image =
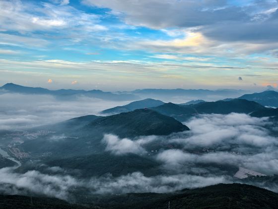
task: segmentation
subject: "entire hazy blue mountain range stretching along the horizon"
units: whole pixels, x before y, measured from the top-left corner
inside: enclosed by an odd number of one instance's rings
[[[20,93],[20,94],[43,94],[53,95],[59,99],[76,99],[77,96],[87,96],[110,101],[135,101],[140,99],[152,98],[156,100],[172,101],[177,98],[181,99],[200,99],[200,98],[215,98],[215,100],[224,99],[225,97],[236,98],[246,91],[243,90],[203,90],[203,89],[142,89],[125,92],[103,92],[100,90],[48,90],[44,88],[33,88],[7,83],[0,87],[0,92]]]

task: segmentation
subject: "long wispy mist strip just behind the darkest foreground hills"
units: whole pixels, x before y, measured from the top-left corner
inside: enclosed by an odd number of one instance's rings
[[[49,168],[60,172],[60,168]],[[134,172],[117,178],[111,175],[77,179],[69,175],[48,175],[38,171],[16,173],[13,168],[0,169],[0,193],[5,195],[44,195],[56,197],[70,202],[74,201],[74,193],[78,189],[86,189],[91,194],[155,192],[169,193],[184,188],[197,188],[222,182],[229,182],[225,176],[196,175],[158,175],[146,177]]]

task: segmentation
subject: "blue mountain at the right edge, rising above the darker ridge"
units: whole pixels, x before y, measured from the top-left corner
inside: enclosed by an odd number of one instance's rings
[[[278,92],[276,91],[265,91],[261,93],[243,95],[238,99],[254,101],[264,106],[278,107]]]

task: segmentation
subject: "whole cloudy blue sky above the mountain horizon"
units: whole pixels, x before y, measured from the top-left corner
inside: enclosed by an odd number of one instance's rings
[[[277,0],[0,0],[0,85],[278,85]]]

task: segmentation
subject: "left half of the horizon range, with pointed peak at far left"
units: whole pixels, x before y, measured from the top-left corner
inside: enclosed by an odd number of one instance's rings
[[[72,89],[60,89],[60,90],[48,90],[44,88],[24,87],[12,83],[5,84],[0,87],[0,90],[7,91],[9,93],[20,94],[36,94],[36,95],[53,95],[59,98],[72,98],[78,95],[84,95],[87,97],[93,97],[103,100],[112,101],[130,101],[139,99],[138,96],[132,94],[114,94],[111,92],[103,92],[100,90],[72,90]]]

